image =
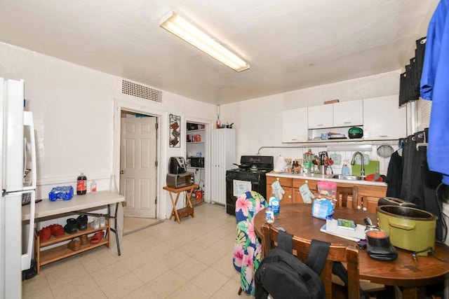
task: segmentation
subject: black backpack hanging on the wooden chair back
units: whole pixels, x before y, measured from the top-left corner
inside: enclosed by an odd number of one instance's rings
[[[280,231],[278,248],[267,253],[255,272],[255,298],[326,298],[319,274],[328,256],[330,243],[312,240],[306,263],[292,252],[292,235]]]

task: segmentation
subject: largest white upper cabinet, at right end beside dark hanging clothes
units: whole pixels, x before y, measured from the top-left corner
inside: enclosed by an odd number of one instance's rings
[[[398,139],[407,136],[407,109],[398,95],[363,99],[363,139]]]

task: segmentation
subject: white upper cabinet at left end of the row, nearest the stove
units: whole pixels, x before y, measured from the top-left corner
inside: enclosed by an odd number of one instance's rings
[[[307,141],[307,107],[282,111],[282,142]]]

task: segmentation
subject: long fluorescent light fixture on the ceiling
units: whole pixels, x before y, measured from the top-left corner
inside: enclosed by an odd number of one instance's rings
[[[187,22],[187,20],[177,15],[174,11],[170,11],[170,13],[165,15],[161,19],[159,26],[175,34],[180,39],[187,41],[187,43],[190,43],[204,53],[214,57],[219,62],[226,64],[235,71],[244,71],[250,68],[247,62],[227,50],[220,43],[217,43],[217,41],[200,29],[194,27],[194,25]]]

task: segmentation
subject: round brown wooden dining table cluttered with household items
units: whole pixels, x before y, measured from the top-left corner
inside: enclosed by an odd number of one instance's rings
[[[354,210],[347,207],[335,207],[334,218],[354,220],[364,225],[363,219],[369,217],[377,223],[376,214],[368,211]],[[264,210],[256,214],[254,226],[258,236],[262,236],[265,223]],[[311,204],[281,204],[279,215],[274,216],[274,226],[284,228],[287,232],[304,239],[318,239],[332,244],[354,244],[356,242],[321,232],[326,220],[311,216]],[[360,279],[375,284],[401,287],[403,298],[425,298],[425,286],[449,279],[449,263],[438,260],[431,253],[413,259],[412,251],[398,249],[396,260],[373,260],[366,249],[359,250],[358,264]],[[438,258],[449,258],[449,247],[436,242],[434,252]]]

